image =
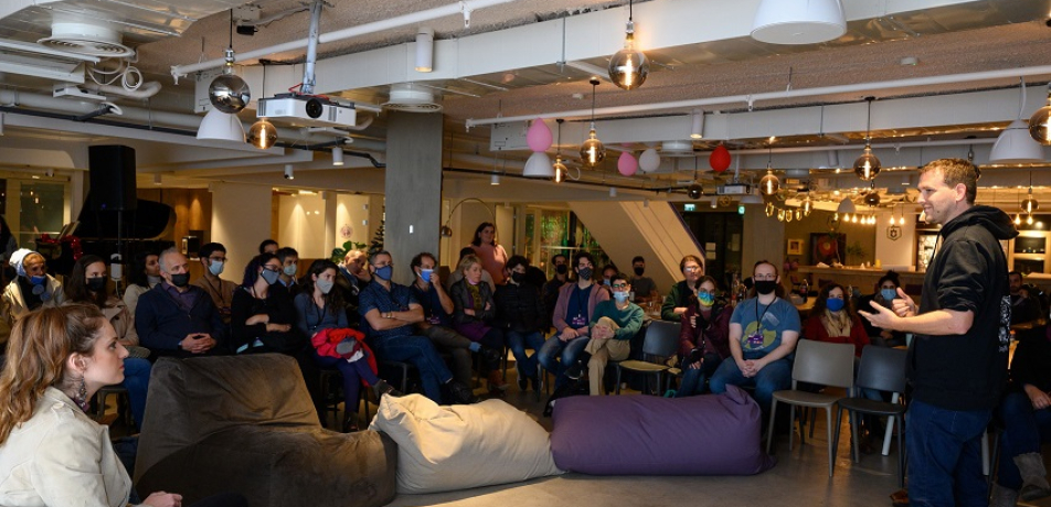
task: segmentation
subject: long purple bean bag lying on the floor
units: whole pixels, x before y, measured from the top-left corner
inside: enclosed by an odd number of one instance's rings
[[[688,398],[563,398],[552,418],[551,452],[564,471],[754,475],[774,466],[760,445],[760,407],[734,386]]]

